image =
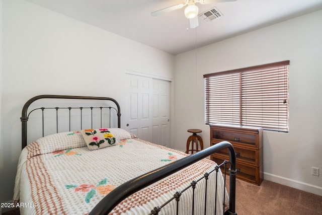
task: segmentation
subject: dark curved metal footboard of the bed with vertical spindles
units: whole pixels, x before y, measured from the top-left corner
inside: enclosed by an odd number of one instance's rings
[[[113,208],[119,204],[123,199],[130,196],[131,194],[147,187],[154,182],[166,178],[167,176],[188,167],[191,164],[194,164],[197,161],[200,161],[203,158],[210,156],[224,148],[228,148],[229,150],[229,157],[230,157],[230,168],[229,168],[229,209],[225,212],[225,214],[237,214],[235,212],[235,183],[236,183],[236,157],[235,151],[232,145],[227,141],[222,141],[219,144],[213,145],[205,150],[199,151],[196,154],[192,154],[188,157],[180,159],[176,162],[168,164],[166,166],[160,167],[156,170],[138,176],[114,189],[110,192],[107,196],[105,196],[90,212],[90,215],[94,214],[108,214]],[[227,163],[227,162],[225,162]],[[223,165],[223,164],[221,164]],[[217,167],[219,168],[219,167]],[[216,171],[216,170],[213,170]],[[207,179],[210,173],[205,173],[204,177],[201,179]],[[199,180],[201,180],[199,179]],[[190,187],[194,188],[194,185],[197,181],[192,182]],[[185,190],[186,190],[185,189]],[[172,200],[176,200],[179,202],[181,194],[185,191],[178,191],[174,194],[174,197],[169,199],[169,201],[165,202],[163,205],[155,206],[151,208],[150,214],[158,214],[160,209],[169,203]],[[206,202],[205,202],[206,203]],[[178,205],[177,205],[177,213],[178,213]],[[192,211],[193,214],[193,211]],[[184,214],[185,215],[185,214]]]

